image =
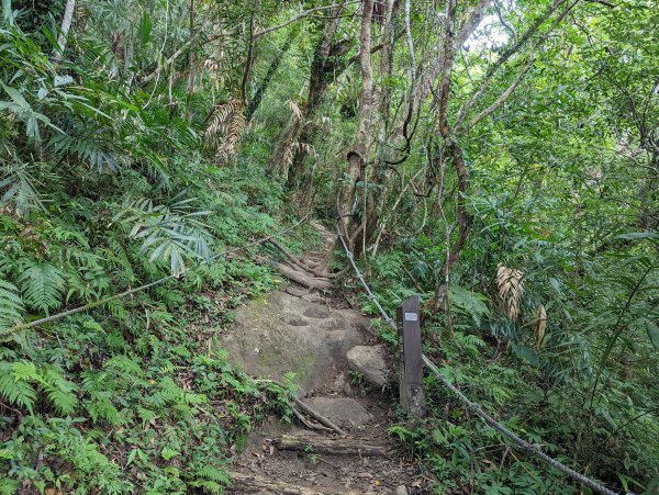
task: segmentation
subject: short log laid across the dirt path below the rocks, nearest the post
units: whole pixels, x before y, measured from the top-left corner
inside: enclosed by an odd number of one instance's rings
[[[389,445],[356,438],[326,438],[312,435],[282,435],[276,439],[277,448],[309,453],[335,455],[387,457],[393,452]]]

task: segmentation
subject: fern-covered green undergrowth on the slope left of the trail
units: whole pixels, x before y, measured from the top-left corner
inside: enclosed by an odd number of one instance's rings
[[[0,493],[221,493],[230,457],[266,410],[286,414],[290,392],[258,387],[220,349],[231,311],[279,283],[253,260],[261,248],[234,248],[293,215],[258,164],[217,167],[199,122],[146,91],[126,94],[93,65],[56,66],[44,33],[0,32],[11,79],[0,114]],[[311,232],[279,240],[300,249]]]

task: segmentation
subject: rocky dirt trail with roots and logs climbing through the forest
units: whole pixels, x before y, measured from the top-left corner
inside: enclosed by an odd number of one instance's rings
[[[424,493],[415,480],[417,466],[405,462],[387,437],[395,421],[396,401],[388,376],[392,367],[368,318],[346,300],[309,288],[326,282],[311,271],[326,272],[336,240],[324,227],[316,228],[324,248],[298,265],[281,267],[289,275],[288,270],[295,270],[292,278],[308,286],[291,283],[252,301],[222,345],[230,360],[254,376],[282,380],[294,372],[300,410],[310,406],[345,435],[306,415],[292,423],[269,417],[235,459],[234,488],[228,493]]]

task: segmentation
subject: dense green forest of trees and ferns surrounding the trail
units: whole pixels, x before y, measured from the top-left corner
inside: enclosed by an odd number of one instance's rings
[[[657,26],[657,0],[3,0],[0,493],[222,493],[291,392],[211,351],[278,283],[215,255],[308,216],[389,314],[421,296],[424,352],[509,428],[656,493]],[[391,435],[435,493],[580,493],[426,394]]]

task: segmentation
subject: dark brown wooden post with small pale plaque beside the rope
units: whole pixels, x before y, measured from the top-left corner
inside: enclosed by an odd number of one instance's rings
[[[398,310],[398,320],[401,342],[401,406],[412,419],[421,419],[426,415],[426,406],[423,390],[418,296],[414,295],[403,301]]]

